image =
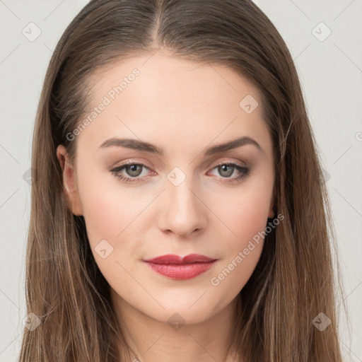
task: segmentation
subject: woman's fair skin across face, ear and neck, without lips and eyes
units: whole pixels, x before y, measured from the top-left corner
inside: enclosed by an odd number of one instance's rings
[[[132,57],[98,71],[92,105],[119,79],[140,75],[76,136],[76,160],[57,148],[70,208],[86,221],[95,262],[111,286],[117,316],[132,335],[139,361],[233,361],[227,344],[233,334],[238,293],[250,279],[264,240],[215,286],[211,278],[228,267],[274,216],[271,136],[262,119],[257,89],[225,66],[201,65],[163,52]],[[240,100],[252,95],[259,106],[247,114]],[[262,147],[245,145],[212,156],[205,148],[249,136]],[[164,155],[120,146],[100,148],[112,137],[141,139]],[[141,182],[119,180],[108,168],[127,160],[144,163]],[[228,161],[250,174],[216,167]],[[185,180],[168,180],[173,168]],[[230,172],[229,172],[230,171]],[[124,177],[135,174],[122,170]],[[229,176],[228,176],[229,175]],[[231,180],[231,181],[230,181]],[[113,251],[95,252],[100,240]],[[174,280],[148,268],[143,259],[165,254],[202,254],[218,259],[193,279]],[[178,313],[185,324],[173,329]]]

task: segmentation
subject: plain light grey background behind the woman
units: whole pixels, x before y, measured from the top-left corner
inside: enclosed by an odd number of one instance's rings
[[[0,0],[0,362],[15,362],[20,351],[30,213],[30,185],[23,175],[30,168],[42,81],[59,37],[87,2]],[[362,0],[255,3],[284,37],[303,85],[330,177],[351,320],[349,331],[341,314],[341,345],[345,361],[362,361]],[[36,35],[31,22],[41,30],[33,41],[22,33]]]

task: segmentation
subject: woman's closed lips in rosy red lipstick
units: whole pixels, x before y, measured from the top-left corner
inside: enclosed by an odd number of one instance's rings
[[[178,255],[162,255],[146,259],[144,262],[158,274],[171,279],[191,279],[209,270],[217,259],[205,255],[190,254],[185,257]]]

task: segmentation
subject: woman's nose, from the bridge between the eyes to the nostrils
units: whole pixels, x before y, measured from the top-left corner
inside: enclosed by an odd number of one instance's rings
[[[197,187],[194,187],[193,175],[180,168],[174,168],[168,173],[167,178],[160,228],[183,235],[204,228],[204,204],[200,195],[194,191]]]

